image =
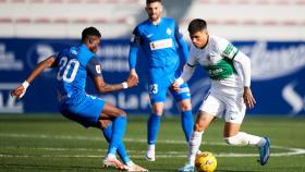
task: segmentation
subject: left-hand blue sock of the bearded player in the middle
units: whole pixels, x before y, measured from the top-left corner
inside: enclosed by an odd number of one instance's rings
[[[148,145],[155,145],[160,127],[161,115],[150,113],[147,122],[147,140]]]

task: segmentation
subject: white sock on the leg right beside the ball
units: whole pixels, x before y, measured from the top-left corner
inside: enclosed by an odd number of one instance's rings
[[[188,142],[188,163],[195,165],[196,153],[199,150],[202,144],[203,132],[193,132]]]

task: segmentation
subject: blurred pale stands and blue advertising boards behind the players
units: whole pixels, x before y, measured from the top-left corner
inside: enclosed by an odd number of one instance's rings
[[[164,16],[174,17],[184,38],[194,17],[207,20],[211,34],[227,37],[252,58],[252,88],[257,100],[252,115],[305,114],[305,1],[304,0],[163,0]],[[47,71],[22,101],[10,90],[37,62],[78,44],[83,28],[96,26],[102,44],[108,83],[127,77],[129,39],[136,23],[146,19],[144,0],[0,0],[0,113],[57,113],[54,72]],[[146,60],[139,54],[141,84],[115,94],[97,95],[130,114],[149,112]],[[190,81],[194,112],[209,87],[198,69]],[[200,75],[205,75],[202,78]],[[96,94],[89,82],[87,90]],[[178,114],[171,97],[166,114]]]

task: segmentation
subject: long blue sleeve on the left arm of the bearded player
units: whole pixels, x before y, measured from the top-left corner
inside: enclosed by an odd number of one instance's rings
[[[138,27],[135,27],[131,37],[130,53],[129,53],[129,64],[131,70],[135,69],[136,66],[136,58],[141,44],[142,44],[142,36]]]

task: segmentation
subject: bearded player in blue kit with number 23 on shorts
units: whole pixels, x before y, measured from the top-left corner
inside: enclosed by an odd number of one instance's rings
[[[155,161],[155,145],[163,113],[167,90],[181,74],[182,69],[179,66],[180,64],[185,64],[188,49],[174,20],[161,17],[161,0],[146,0],[145,10],[148,14],[148,20],[135,27],[131,39],[130,77],[138,77],[135,67],[137,52],[142,49],[148,60],[148,91],[151,103],[151,113],[147,122],[148,146],[146,159]],[[170,91],[175,101],[179,102],[182,127],[186,142],[188,142],[194,125],[191,94],[185,83],[180,88],[178,93],[171,89]]]

